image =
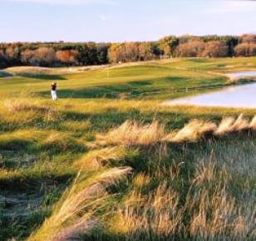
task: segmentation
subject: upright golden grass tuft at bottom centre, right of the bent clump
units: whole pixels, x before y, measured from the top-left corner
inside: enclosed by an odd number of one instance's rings
[[[153,234],[155,238],[179,233],[182,216],[177,209],[178,203],[177,194],[165,182],[147,195],[140,190],[131,191],[116,211],[110,229],[127,235],[130,240],[139,240],[141,229],[148,237]]]

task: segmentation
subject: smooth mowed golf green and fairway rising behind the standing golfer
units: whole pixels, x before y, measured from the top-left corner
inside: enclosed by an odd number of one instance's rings
[[[246,62],[244,62],[246,61]],[[226,68],[224,66],[227,66]],[[173,60],[150,61],[140,65],[102,67],[102,69],[82,71],[68,75],[42,75],[17,72],[8,80],[1,80],[1,94],[32,91],[47,96],[49,85],[57,81],[62,97],[112,97],[126,93],[132,97],[152,98],[185,88],[211,87],[224,84],[225,78],[208,71],[226,71],[255,66],[255,59],[237,60]],[[170,95],[171,96],[171,95]]]

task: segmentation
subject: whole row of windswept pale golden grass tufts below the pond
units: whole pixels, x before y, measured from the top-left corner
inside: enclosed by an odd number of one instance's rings
[[[97,135],[96,143],[100,145],[155,145],[160,142],[182,143],[194,142],[205,135],[222,136],[242,130],[255,130],[256,117],[252,120],[240,115],[237,119],[224,117],[219,124],[207,120],[190,120],[181,130],[171,130],[165,134],[165,125],[153,121],[148,125],[126,120],[126,122],[106,135]]]

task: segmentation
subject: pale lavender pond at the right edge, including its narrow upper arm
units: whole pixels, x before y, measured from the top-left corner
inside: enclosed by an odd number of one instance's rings
[[[251,77],[256,76],[256,71],[237,72],[229,74],[229,76],[232,78]],[[230,86],[221,91],[165,101],[163,104],[165,106],[256,108],[256,83],[244,86]]]

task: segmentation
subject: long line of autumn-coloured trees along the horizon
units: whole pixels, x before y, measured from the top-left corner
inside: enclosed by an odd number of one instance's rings
[[[163,37],[156,42],[0,43],[0,67],[86,66],[170,57],[253,57],[256,35]]]

